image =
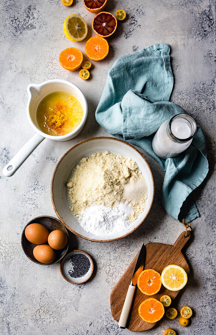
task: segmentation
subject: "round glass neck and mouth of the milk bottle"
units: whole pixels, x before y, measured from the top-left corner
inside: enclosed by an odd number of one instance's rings
[[[182,125],[182,127],[178,127],[180,129],[175,131],[174,125]],[[187,127],[187,132],[184,134],[182,130]],[[174,129],[174,130],[173,130]],[[193,139],[194,135],[196,134],[197,131],[197,124],[195,120],[187,115],[187,114],[177,114],[174,115],[168,122],[167,127],[166,127],[166,133],[169,139],[175,143],[186,143],[189,142],[190,140]]]

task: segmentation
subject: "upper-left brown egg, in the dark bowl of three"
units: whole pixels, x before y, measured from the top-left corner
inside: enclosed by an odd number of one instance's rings
[[[40,223],[31,223],[25,228],[26,239],[34,244],[47,243],[49,230]]]

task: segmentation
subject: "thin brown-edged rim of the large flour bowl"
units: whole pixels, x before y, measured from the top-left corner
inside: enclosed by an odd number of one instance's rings
[[[55,177],[55,174],[56,174],[56,171],[58,169],[58,166],[60,164],[60,162],[62,161],[62,159],[68,154],[69,151],[71,151],[73,148],[75,148],[76,146],[84,143],[84,142],[88,142],[88,141],[91,141],[91,140],[95,140],[95,139],[102,139],[102,138],[106,138],[106,139],[111,139],[111,140],[115,140],[115,141],[118,141],[118,142],[121,142],[121,143],[124,143],[124,144],[127,144],[128,146],[130,146],[132,149],[134,149],[137,153],[140,154],[140,156],[143,158],[143,160],[146,162],[146,164],[148,165],[148,168],[149,168],[149,171],[150,171],[150,174],[151,174],[151,178],[152,178],[152,184],[153,184],[153,196],[152,196],[152,201],[151,201],[151,205],[149,206],[149,210],[148,212],[146,213],[146,216],[144,217],[144,219],[131,231],[129,231],[127,234],[123,235],[123,236],[120,236],[120,237],[117,237],[115,239],[109,239],[109,240],[95,240],[95,239],[90,239],[90,238],[87,238],[85,236],[82,236],[81,234],[77,233],[75,230],[71,229],[63,220],[62,218],[60,217],[57,209],[56,209],[56,206],[55,206],[55,203],[54,203],[54,197],[53,197],[53,181],[54,181],[54,177]],[[58,216],[59,220],[64,224],[64,226],[70,230],[73,234],[85,239],[85,240],[88,240],[88,241],[93,241],[93,242],[111,242],[111,241],[116,241],[116,240],[120,240],[120,239],[123,239],[124,237],[130,235],[132,232],[134,232],[146,219],[146,217],[148,216],[149,212],[150,212],[150,209],[152,207],[152,204],[153,204],[153,201],[154,201],[154,191],[155,191],[155,187],[154,187],[154,178],[153,178],[153,174],[152,174],[152,171],[151,171],[151,168],[149,166],[149,163],[147,162],[147,160],[145,159],[145,157],[143,156],[143,154],[137,149],[135,148],[133,145],[131,145],[130,143],[127,143],[123,140],[120,140],[119,138],[115,138],[115,137],[109,137],[109,136],[97,136],[97,137],[91,137],[91,138],[88,138],[86,140],[83,140],[83,141],[80,141],[78,142],[77,144],[73,145],[70,149],[68,149],[64,154],[63,156],[59,159],[56,167],[55,167],[55,170],[53,172],[53,176],[52,176],[52,180],[51,180],[51,200],[52,200],[52,204],[53,204],[53,208],[56,212],[56,215]]]

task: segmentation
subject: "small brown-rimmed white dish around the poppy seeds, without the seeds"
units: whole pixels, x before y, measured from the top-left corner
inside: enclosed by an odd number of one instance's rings
[[[71,263],[69,261],[69,258],[72,256],[72,255],[75,255],[75,254],[85,254],[86,257],[88,257],[89,261],[90,261],[90,268],[88,270],[88,272],[86,272],[86,274],[84,274],[82,277],[78,277],[78,278],[74,278],[74,277],[71,277],[68,272],[69,270],[71,270]],[[93,269],[94,269],[94,264],[93,264],[93,261],[91,259],[91,257],[86,254],[84,251],[82,250],[73,250],[72,252],[70,252],[69,254],[67,254],[60,262],[60,272],[61,272],[61,275],[62,277],[67,280],[69,283],[71,284],[82,284],[84,283],[85,281],[87,281],[92,273],[93,273]]]

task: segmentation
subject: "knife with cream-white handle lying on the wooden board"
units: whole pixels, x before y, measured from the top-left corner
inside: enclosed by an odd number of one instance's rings
[[[145,259],[146,259],[146,248],[145,248],[145,244],[143,243],[139,256],[137,258],[137,262],[134,268],[134,273],[132,275],[131,283],[129,285],[128,292],[125,298],[124,306],[123,306],[122,313],[121,313],[119,323],[118,323],[118,328],[125,329],[126,327],[135,288],[136,288],[136,284],[137,284],[137,279],[140,273],[143,271],[143,268],[145,266]]]

